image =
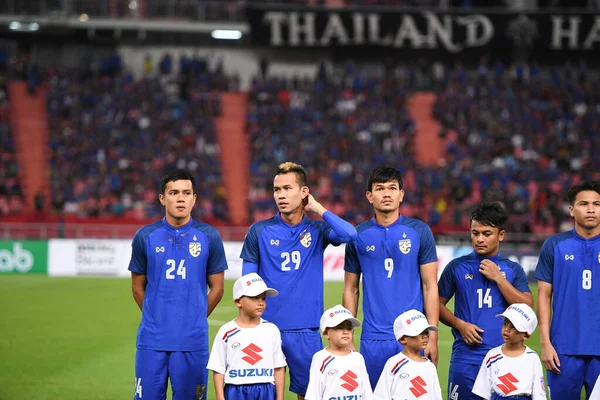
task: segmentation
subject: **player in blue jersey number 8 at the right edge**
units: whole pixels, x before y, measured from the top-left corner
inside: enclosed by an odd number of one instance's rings
[[[534,277],[542,363],[552,399],[587,397],[600,375],[600,182],[567,193],[575,228],[548,238]]]

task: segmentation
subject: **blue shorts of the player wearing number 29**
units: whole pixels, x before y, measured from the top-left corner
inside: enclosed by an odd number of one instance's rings
[[[281,331],[281,349],[290,369],[290,392],[304,396],[312,356],[323,349],[321,334],[318,329]]]

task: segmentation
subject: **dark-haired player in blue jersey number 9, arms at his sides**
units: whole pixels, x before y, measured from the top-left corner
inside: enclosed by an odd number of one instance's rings
[[[356,315],[362,275],[360,352],[375,388],[386,361],[402,351],[394,336],[396,317],[415,309],[438,323],[437,252],[431,229],[399,212],[404,190],[398,170],[373,169],[366,196],[375,216],[358,225],[358,238],[346,246],[343,305]],[[430,333],[425,356],[437,364],[437,332]]]

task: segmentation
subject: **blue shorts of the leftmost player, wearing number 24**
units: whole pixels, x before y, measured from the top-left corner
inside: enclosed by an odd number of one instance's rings
[[[164,400],[167,379],[173,400],[206,399],[209,353],[137,349],[134,400]]]

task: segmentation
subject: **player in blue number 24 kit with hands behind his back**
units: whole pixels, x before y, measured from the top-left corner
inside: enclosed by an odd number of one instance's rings
[[[129,263],[133,298],[142,310],[134,399],[206,398],[207,317],[223,297],[227,269],[217,230],[192,219],[194,177],[184,170],[160,182],[165,217],[140,229]],[[210,291],[207,293],[207,286]]]

